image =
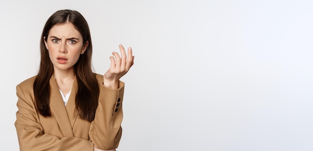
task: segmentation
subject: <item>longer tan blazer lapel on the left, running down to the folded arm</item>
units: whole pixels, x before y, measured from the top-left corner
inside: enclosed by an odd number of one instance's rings
[[[73,132],[67,116],[66,108],[53,76],[50,78],[50,109],[64,137],[72,137]]]

